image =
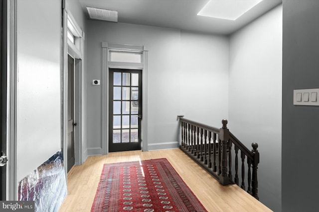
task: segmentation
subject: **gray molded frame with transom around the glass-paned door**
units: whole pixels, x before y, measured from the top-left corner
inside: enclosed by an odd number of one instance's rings
[[[112,50],[142,53],[142,63],[111,62]],[[146,46],[102,42],[102,154],[109,153],[109,68],[142,70],[142,150],[148,150],[147,143],[147,70],[148,49]]]

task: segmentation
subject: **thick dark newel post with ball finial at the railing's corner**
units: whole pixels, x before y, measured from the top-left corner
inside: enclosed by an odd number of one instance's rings
[[[219,130],[219,139],[221,142],[221,173],[219,175],[219,182],[222,185],[228,185],[231,183],[227,175],[227,142],[229,140],[229,130],[227,129],[228,121],[223,119],[221,123],[223,124],[223,127]]]

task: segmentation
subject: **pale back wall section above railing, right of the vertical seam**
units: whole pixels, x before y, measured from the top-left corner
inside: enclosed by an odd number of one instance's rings
[[[228,38],[182,32],[181,43],[180,114],[220,128],[228,118]]]

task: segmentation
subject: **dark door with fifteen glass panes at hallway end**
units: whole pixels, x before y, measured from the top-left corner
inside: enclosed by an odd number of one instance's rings
[[[109,151],[142,149],[142,70],[109,70]]]

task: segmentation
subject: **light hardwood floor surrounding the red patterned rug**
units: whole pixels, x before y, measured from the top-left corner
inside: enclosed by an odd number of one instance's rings
[[[68,173],[68,195],[59,212],[90,212],[104,163],[167,158],[208,212],[271,212],[237,185],[222,186],[179,149],[122,151],[89,156]]]

